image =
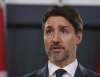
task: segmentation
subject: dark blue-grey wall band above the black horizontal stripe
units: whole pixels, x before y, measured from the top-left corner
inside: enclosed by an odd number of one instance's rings
[[[7,19],[9,23],[40,24],[42,16],[48,7],[42,5],[7,5]],[[72,7],[81,13],[85,24],[100,24],[100,6]]]

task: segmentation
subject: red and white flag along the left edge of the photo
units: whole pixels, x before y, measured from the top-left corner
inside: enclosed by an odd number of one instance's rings
[[[4,8],[0,2],[0,77],[7,77]]]

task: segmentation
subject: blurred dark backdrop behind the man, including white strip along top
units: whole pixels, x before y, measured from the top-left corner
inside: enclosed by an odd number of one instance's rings
[[[41,20],[52,5],[70,5],[79,11],[84,21],[84,36],[77,51],[78,60],[100,72],[99,0],[5,0],[7,77],[21,77],[47,61]]]

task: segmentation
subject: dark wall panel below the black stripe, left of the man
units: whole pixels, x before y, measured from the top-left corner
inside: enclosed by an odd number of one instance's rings
[[[9,77],[31,72],[46,60],[41,36],[40,29],[8,29],[9,71],[13,74]]]

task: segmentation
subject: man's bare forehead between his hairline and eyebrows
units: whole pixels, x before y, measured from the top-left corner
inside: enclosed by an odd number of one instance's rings
[[[62,16],[51,16],[45,23],[46,27],[72,27],[72,24]]]

